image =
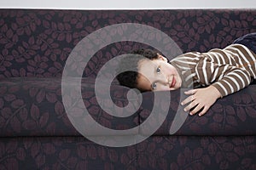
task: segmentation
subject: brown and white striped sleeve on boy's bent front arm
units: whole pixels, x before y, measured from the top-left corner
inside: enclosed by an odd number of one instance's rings
[[[247,70],[234,65],[218,64],[210,57],[201,58],[195,66],[195,72],[201,85],[212,85],[222,97],[247,87],[251,82]]]

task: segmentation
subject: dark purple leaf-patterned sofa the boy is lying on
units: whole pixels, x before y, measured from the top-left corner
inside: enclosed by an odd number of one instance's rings
[[[205,116],[183,112],[182,90],[139,94],[114,78],[109,89],[99,90],[111,99],[97,98],[95,90],[98,73],[109,60],[151,47],[140,37],[156,44],[166,41],[142,31],[133,35],[137,41],[112,42],[114,35],[127,36],[125,24],[163,32],[179,53],[206,52],[256,31],[255,16],[255,8],[0,9],[0,169],[256,169],[255,83],[218,99]],[[108,26],[117,27],[90,39],[92,47],[79,46]],[[108,45],[92,53],[103,40]],[[169,47],[166,43],[161,52],[170,54],[174,46]],[[76,48],[87,48],[90,59],[79,60]],[[72,74],[77,72],[79,76]],[[63,78],[66,74],[73,79]],[[79,105],[76,93],[83,101]],[[137,109],[129,116],[113,116],[115,105]],[[181,123],[173,126],[177,120]]]

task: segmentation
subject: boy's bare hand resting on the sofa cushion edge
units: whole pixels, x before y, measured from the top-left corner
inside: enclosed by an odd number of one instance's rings
[[[199,116],[204,115],[215,101],[221,97],[218,89],[213,86],[192,89],[185,92],[185,94],[190,96],[181,103],[181,105],[189,104],[184,108],[184,111],[190,111],[189,114],[194,115],[202,109],[202,111],[199,112]]]

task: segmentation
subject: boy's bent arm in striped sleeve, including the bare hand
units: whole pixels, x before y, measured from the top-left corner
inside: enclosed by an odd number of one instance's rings
[[[251,80],[248,71],[234,65],[216,64],[210,58],[201,59],[195,71],[199,82],[208,87],[185,93],[189,97],[182,102],[182,105],[187,105],[184,110],[190,111],[190,115],[198,111],[201,111],[200,116],[204,115],[218,98],[245,88]]]

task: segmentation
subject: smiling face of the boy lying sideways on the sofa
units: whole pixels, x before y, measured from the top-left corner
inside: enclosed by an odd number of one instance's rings
[[[142,59],[138,63],[137,88],[143,91],[176,90],[182,85],[177,70],[167,59],[158,54],[158,59]]]

